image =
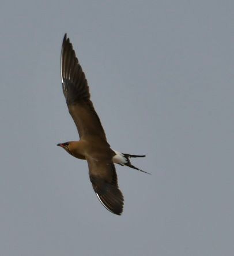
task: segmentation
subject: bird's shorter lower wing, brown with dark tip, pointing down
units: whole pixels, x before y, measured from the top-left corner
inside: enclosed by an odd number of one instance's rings
[[[108,158],[87,158],[93,190],[103,206],[112,213],[123,212],[123,195],[118,187],[115,166]]]

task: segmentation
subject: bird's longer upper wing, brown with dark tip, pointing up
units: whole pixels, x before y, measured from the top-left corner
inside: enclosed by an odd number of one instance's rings
[[[85,74],[66,34],[61,51],[61,77],[67,107],[77,126],[80,138],[97,136],[106,140],[100,119],[90,101]]]

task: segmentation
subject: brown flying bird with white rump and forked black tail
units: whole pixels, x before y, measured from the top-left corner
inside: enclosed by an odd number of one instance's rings
[[[145,155],[125,154],[111,149],[100,118],[90,100],[85,73],[67,34],[62,42],[61,79],[67,107],[76,124],[80,140],[58,143],[57,146],[65,149],[73,157],[88,162],[89,179],[97,198],[111,213],[121,215],[124,198],[119,190],[114,164],[145,172],[133,166],[130,161],[130,158],[145,157]]]

